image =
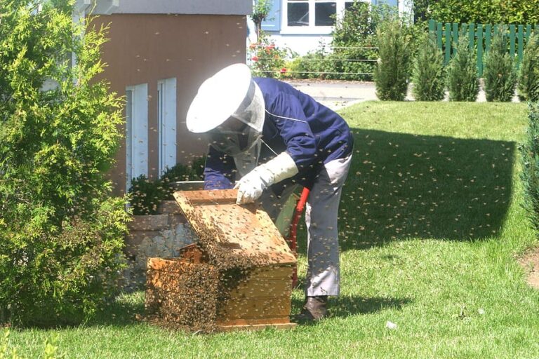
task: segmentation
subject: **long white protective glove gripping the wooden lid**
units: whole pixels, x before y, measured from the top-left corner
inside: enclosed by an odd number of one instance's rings
[[[286,152],[282,152],[279,156],[255,167],[254,170],[241,177],[234,186],[235,189],[238,189],[236,203],[239,205],[253,203],[262,196],[262,192],[267,187],[297,174],[298,166],[295,165],[292,157]]]

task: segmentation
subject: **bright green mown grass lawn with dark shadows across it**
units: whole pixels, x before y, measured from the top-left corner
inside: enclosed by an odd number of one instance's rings
[[[67,358],[538,358],[539,291],[515,260],[536,244],[519,182],[526,105],[365,102],[341,114],[356,143],[331,318],[185,334],[136,321],[137,292],[81,327],[12,330],[11,346],[36,357],[57,337]],[[301,304],[298,289],[293,313]]]

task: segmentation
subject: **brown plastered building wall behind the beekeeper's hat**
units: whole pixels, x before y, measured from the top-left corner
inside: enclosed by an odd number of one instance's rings
[[[203,155],[204,140],[185,126],[187,109],[205,79],[222,67],[245,62],[246,16],[115,13],[94,18],[93,24],[109,24],[110,40],[102,48],[107,63],[102,78],[111,90],[125,95],[126,86],[148,84],[149,177],[158,177],[157,81],[161,79],[177,80],[177,161],[189,163],[193,156]],[[114,193],[121,194],[126,191],[125,141],[116,161],[109,175]]]

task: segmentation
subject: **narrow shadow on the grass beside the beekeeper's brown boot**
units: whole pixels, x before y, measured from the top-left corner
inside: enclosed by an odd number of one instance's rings
[[[411,299],[408,298],[340,296],[329,299],[328,311],[331,318],[346,318],[357,314],[376,313],[387,309],[400,310],[403,306],[411,302]],[[292,299],[294,313],[298,313],[302,306],[302,299]]]

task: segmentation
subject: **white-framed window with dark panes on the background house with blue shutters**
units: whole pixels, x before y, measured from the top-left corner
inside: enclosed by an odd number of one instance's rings
[[[330,34],[335,19],[354,4],[353,0],[286,0],[284,31],[292,33]]]

